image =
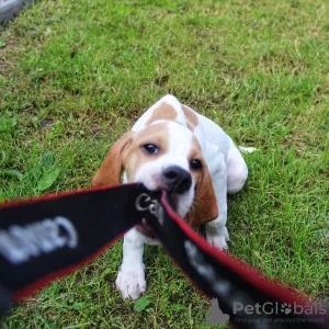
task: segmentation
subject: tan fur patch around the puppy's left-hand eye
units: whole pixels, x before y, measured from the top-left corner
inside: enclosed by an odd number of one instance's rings
[[[143,145],[154,144],[159,148],[156,155],[149,155],[143,149]],[[146,127],[138,133],[124,158],[128,181],[134,181],[137,170],[146,162],[157,160],[169,148],[169,132],[166,123],[159,123]]]

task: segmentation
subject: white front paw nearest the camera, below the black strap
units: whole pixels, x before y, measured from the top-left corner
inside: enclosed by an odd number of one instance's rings
[[[121,265],[115,285],[124,298],[138,299],[146,291],[144,265]]]

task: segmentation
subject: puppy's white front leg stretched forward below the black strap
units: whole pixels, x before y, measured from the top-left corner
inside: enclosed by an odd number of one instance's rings
[[[144,242],[145,239],[136,228],[132,228],[124,236],[123,262],[115,281],[124,298],[137,299],[146,291]]]

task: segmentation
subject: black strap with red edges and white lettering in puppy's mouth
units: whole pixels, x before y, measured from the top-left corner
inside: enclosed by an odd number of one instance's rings
[[[141,184],[102,186],[0,206],[0,315],[106,250],[143,218],[218,315],[238,328],[326,328],[329,310],[212,247]],[[328,327],[327,327],[328,328]]]

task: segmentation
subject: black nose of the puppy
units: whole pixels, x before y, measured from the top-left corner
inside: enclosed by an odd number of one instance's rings
[[[192,185],[190,172],[178,166],[170,166],[164,169],[162,179],[170,192],[184,193]]]

